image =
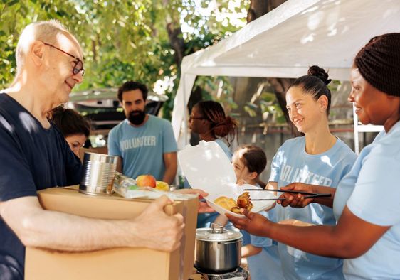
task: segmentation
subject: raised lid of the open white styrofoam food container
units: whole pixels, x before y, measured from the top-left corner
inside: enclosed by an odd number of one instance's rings
[[[231,161],[214,141],[200,141],[196,146],[187,145],[179,151],[178,161],[192,188],[212,193],[221,185],[236,182]]]

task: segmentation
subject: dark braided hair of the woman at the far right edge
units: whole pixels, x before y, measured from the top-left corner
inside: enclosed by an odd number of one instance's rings
[[[400,33],[372,38],[354,58],[354,68],[377,90],[400,97]]]

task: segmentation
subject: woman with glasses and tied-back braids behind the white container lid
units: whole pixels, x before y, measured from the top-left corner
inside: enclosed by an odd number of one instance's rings
[[[200,140],[216,141],[229,159],[232,152],[228,148],[238,134],[236,119],[226,116],[219,102],[201,101],[191,109],[189,126],[193,133],[199,134]],[[228,145],[222,140],[225,139]]]

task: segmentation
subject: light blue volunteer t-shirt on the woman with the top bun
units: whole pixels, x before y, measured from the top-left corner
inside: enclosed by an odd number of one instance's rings
[[[357,156],[337,139],[325,153],[312,155],[305,151],[305,137],[289,139],[280,146],[271,164],[270,182],[278,188],[301,182],[335,188],[350,171]],[[277,205],[278,220],[295,219],[315,225],[336,225],[331,208],[317,203],[305,208],[283,208]],[[278,243],[285,279],[343,279],[342,259],[320,257]]]

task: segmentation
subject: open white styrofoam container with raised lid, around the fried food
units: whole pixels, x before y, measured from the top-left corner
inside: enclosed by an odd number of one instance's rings
[[[236,217],[244,217],[214,203],[214,200],[222,195],[237,200],[238,196],[243,193],[243,189],[257,188],[254,185],[236,184],[236,175],[231,161],[219,144],[214,141],[200,141],[200,144],[196,146],[187,145],[178,152],[178,161],[191,187],[209,193],[204,199],[211,208],[222,215],[228,212]],[[250,197],[253,199],[276,198],[273,192],[269,191],[253,191],[250,192]],[[275,201],[253,201],[252,203],[251,211],[260,212],[272,208]]]

